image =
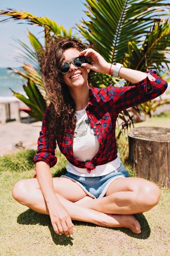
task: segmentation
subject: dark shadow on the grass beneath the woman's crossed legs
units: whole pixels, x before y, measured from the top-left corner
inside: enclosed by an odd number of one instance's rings
[[[141,225],[141,234],[134,234],[129,229],[125,228],[107,228],[111,230],[120,230],[121,232],[125,233],[128,236],[138,238],[138,239],[147,239],[150,236],[150,227],[148,225],[148,222],[144,216],[144,214],[134,214],[135,218],[139,221]],[[53,239],[53,242],[56,245],[73,245],[73,238],[65,236],[65,234],[62,234],[62,236],[59,236],[55,233],[53,230],[53,226],[51,224],[50,217],[48,215],[37,213],[31,209],[28,209],[27,211],[24,211],[21,213],[17,218],[17,223],[21,225],[42,225],[47,226],[51,232],[51,237]],[[96,227],[95,224],[89,223],[89,222],[82,222],[82,221],[73,221],[73,224],[75,226],[90,226],[90,227]]]

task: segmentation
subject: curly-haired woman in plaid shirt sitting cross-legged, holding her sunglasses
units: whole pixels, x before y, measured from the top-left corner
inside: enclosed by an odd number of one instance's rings
[[[144,73],[107,63],[75,38],[49,42],[38,58],[51,104],[34,157],[36,179],[17,182],[13,198],[49,214],[60,235],[73,236],[72,220],[126,227],[139,234],[139,222],[132,214],[154,207],[160,190],[148,180],[129,177],[117,154],[115,123],[121,110],[162,94],[166,81],[152,70]],[[93,88],[88,85],[90,70],[119,76],[134,85]],[[56,139],[68,164],[66,175],[52,178]]]

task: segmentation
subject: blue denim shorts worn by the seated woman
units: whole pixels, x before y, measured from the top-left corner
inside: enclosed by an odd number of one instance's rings
[[[61,177],[75,181],[92,198],[102,198],[107,192],[108,186],[116,179],[129,177],[129,173],[123,164],[117,170],[99,177],[81,177],[73,173],[66,173]]]

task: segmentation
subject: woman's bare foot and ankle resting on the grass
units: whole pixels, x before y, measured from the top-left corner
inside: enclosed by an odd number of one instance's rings
[[[130,229],[133,233],[141,233],[141,227],[139,222],[132,215],[120,215],[120,214],[106,214],[107,220],[104,223],[105,227],[126,227]],[[101,224],[100,224],[101,225]]]

